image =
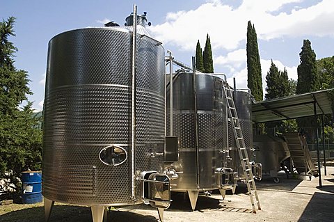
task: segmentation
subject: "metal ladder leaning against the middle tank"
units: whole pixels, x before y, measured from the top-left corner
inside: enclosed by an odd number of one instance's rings
[[[261,209],[260,207],[260,200],[259,196],[257,195],[255,181],[252,173],[252,166],[250,165],[245,140],[242,136],[241,132],[241,126],[239,122],[239,118],[237,115],[237,110],[235,109],[233,97],[232,97],[232,90],[230,89],[230,86],[225,82],[223,84],[223,90],[225,94],[225,98],[228,104],[228,117],[231,120],[232,124],[232,131],[234,134],[235,143],[237,145],[237,149],[239,152],[239,158],[241,161],[241,166],[245,174],[246,178],[246,184],[248,189],[248,196],[250,198],[250,203],[252,203],[253,212],[256,214],[256,207],[255,204],[257,204],[257,209]]]

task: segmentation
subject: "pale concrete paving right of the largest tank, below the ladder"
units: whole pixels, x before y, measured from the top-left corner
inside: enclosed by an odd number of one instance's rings
[[[321,171],[324,171],[322,168]],[[324,172],[322,172],[324,173]],[[334,167],[327,167],[327,175],[312,180],[287,179],[279,175],[280,183],[271,178],[257,182],[262,209],[251,212],[246,186],[241,184],[237,194],[227,195],[225,200],[217,193],[211,197],[199,196],[196,209],[182,193],[172,196],[173,203],[164,212],[164,221],[334,221]],[[122,207],[108,214],[108,221],[157,221],[157,210],[139,205]]]

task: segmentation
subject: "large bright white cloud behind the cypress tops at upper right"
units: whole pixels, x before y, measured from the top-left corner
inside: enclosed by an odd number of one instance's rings
[[[287,3],[300,4],[299,9],[273,15]],[[333,0],[323,0],[303,8],[302,0],[244,0],[239,8],[209,1],[195,10],[168,13],[166,22],[149,29],[157,40],[183,50],[194,50],[196,42],[205,42],[209,33],[212,49],[237,49],[246,39],[248,20],[255,24],[257,37],[264,40],[282,36],[334,36]],[[203,47],[203,46],[202,46]]]

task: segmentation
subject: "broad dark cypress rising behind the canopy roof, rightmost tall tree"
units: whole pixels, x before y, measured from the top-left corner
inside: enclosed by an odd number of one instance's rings
[[[301,47],[301,64],[298,65],[296,94],[310,93],[319,89],[315,51],[312,50],[310,40],[303,41]]]

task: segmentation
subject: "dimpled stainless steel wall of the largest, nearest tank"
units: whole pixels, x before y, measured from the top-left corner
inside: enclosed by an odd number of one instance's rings
[[[136,170],[161,171],[145,144],[164,142],[164,48],[137,36]],[[132,34],[120,27],[77,29],[49,42],[45,91],[43,195],[85,205],[133,204]],[[118,145],[127,159],[100,161]],[[154,152],[163,152],[155,148]]]

